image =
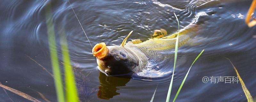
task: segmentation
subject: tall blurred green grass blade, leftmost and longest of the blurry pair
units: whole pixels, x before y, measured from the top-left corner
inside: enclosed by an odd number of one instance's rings
[[[48,40],[49,40],[51,62],[52,62],[52,72],[54,75],[54,83],[56,88],[57,99],[59,102],[65,102],[51,11],[52,11],[51,4],[49,3],[45,7],[45,17],[46,17],[46,26],[47,26],[47,33],[48,33]]]

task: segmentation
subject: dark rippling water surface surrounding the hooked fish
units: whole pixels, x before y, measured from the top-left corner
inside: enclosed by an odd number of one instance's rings
[[[175,69],[171,100],[174,98],[189,66],[196,56],[203,55],[193,65],[176,101],[247,101],[241,84],[203,83],[203,77],[236,76],[229,58],[236,66],[253,98],[256,97],[256,28],[244,23],[252,1],[206,0],[71,0],[81,25],[94,46],[105,42],[120,45],[133,30],[129,39],[148,40],[155,29],[163,28],[170,34],[188,25],[196,15],[202,26],[193,38],[193,46],[179,48],[178,55],[186,59]],[[154,102],[165,101],[171,76],[146,81],[107,77],[97,69],[92,48],[79,25],[68,1],[3,0],[0,4],[0,82],[44,101],[57,101],[53,78],[36,62],[52,73],[47,38],[45,6],[51,3],[52,19],[57,40],[61,68],[60,36],[66,34],[71,64],[75,68],[81,101],[149,102],[156,86]],[[254,16],[254,15],[253,15]],[[149,45],[150,46],[150,45]],[[36,62],[29,59],[30,56]],[[172,71],[170,66],[170,71]],[[12,92],[13,101],[28,101]],[[0,101],[11,101],[0,90]],[[99,95],[99,96],[98,96]],[[103,98],[103,99],[102,99]],[[106,100],[109,99],[109,100]]]

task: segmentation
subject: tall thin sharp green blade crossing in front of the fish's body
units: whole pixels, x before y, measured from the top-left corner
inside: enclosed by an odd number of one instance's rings
[[[171,83],[170,83],[169,90],[168,90],[168,93],[167,93],[166,102],[170,101],[170,96],[171,96],[171,91],[172,91],[172,82],[173,82],[173,76],[174,76],[174,69],[175,69],[175,66],[176,66],[177,55],[178,55],[178,40],[179,40],[180,24],[179,24],[179,20],[178,20],[175,13],[174,13],[174,15],[175,15],[176,20],[178,22],[178,35],[177,35],[176,43],[175,43],[175,53],[174,53],[174,65],[173,65],[173,71],[172,71],[172,79],[171,79]]]

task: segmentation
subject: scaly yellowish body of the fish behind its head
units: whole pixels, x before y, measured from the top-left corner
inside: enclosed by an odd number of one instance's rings
[[[188,25],[181,29],[179,32],[178,47],[183,46],[189,39],[195,37],[197,29],[197,25]],[[158,68],[154,68],[156,70],[163,68],[165,64],[163,61],[165,59],[174,58],[174,54],[170,52],[174,51],[177,35],[178,33],[174,33],[163,38],[149,39],[139,44],[125,44],[124,47],[133,51],[139,59],[139,66],[134,68],[133,72],[147,68],[149,63],[157,66]]]

